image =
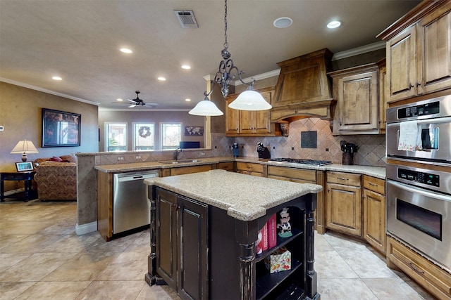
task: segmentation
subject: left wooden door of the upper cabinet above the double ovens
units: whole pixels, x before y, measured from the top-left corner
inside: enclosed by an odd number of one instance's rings
[[[387,43],[390,102],[415,95],[416,27],[407,28]]]

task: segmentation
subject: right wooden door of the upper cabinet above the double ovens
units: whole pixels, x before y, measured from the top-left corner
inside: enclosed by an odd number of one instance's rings
[[[451,2],[418,23],[418,93],[451,87]]]

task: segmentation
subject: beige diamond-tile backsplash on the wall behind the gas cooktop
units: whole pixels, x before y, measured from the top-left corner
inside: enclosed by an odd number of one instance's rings
[[[302,148],[301,133],[317,132],[317,147]],[[263,143],[271,152],[271,157],[290,157],[300,159],[330,160],[335,164],[342,163],[340,141],[347,141],[359,146],[354,153],[354,164],[374,167],[385,167],[385,134],[333,136],[327,120],[318,118],[299,119],[290,123],[288,137],[238,137],[230,141],[230,145],[240,145],[240,155],[258,157],[257,143]],[[214,145],[212,143],[212,145]],[[231,150],[229,150],[231,153]],[[229,154],[230,155],[230,154]]]

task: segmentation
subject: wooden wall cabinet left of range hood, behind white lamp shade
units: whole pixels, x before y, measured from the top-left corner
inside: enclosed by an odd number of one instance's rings
[[[257,90],[261,96],[272,102],[274,86]],[[235,93],[226,98],[227,136],[280,136],[278,124],[271,124],[271,110],[233,110],[228,105],[237,98]]]

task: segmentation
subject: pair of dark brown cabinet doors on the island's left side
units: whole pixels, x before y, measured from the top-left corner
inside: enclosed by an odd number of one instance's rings
[[[156,271],[182,299],[209,299],[208,206],[156,192]]]

